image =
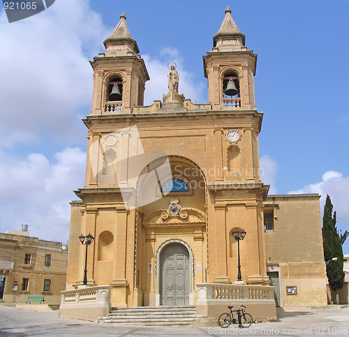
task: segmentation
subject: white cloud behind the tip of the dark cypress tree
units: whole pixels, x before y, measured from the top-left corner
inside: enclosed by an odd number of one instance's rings
[[[337,211],[337,221],[349,223],[349,177],[343,177],[343,174],[336,171],[327,171],[322,175],[322,181],[306,185],[299,190],[290,191],[289,194],[298,193],[318,193],[320,198],[320,210],[322,212],[326,195],[329,195],[334,205],[334,211]]]

